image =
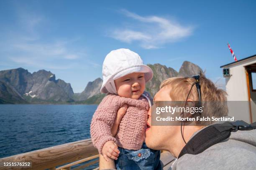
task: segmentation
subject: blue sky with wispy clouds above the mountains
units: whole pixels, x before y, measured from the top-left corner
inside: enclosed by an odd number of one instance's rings
[[[221,65],[256,54],[256,1],[0,0],[0,70],[47,70],[82,92],[118,48],[225,85]]]

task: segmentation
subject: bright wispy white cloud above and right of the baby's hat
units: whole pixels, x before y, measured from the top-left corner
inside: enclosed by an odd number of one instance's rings
[[[122,42],[135,42],[146,49],[159,48],[168,42],[177,42],[192,34],[192,26],[182,26],[179,23],[158,16],[142,17],[128,10],[121,13],[138,23],[130,23],[123,28],[111,30],[108,36]],[[145,25],[146,24],[146,25]],[[132,28],[130,28],[132,25]]]

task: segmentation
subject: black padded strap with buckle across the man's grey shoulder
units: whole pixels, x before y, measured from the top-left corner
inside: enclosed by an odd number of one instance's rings
[[[256,128],[256,122],[254,122],[253,125],[255,125]],[[186,153],[192,155],[202,153],[210,146],[227,139],[231,132],[255,129],[253,125],[250,125],[243,120],[238,120],[236,122],[224,122],[223,124],[207,126],[188,141],[187,145],[185,145],[180,152],[178,158],[182,157],[182,155]]]

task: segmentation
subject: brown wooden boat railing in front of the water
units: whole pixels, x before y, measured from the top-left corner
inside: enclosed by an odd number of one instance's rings
[[[98,163],[98,157],[98,151],[93,147],[91,139],[79,140],[72,143],[1,158],[0,170],[70,170],[74,165],[77,165],[77,167],[72,168],[72,170],[80,170]],[[174,158],[169,152],[161,153],[161,161],[165,166],[170,165],[173,160]],[[90,162],[78,165],[87,161]],[[31,163],[30,167],[4,166],[4,163],[28,162]]]

